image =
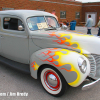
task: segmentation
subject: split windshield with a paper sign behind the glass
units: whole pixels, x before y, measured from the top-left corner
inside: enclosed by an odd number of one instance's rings
[[[54,17],[30,17],[27,19],[28,27],[31,31],[40,29],[55,29],[59,27],[57,20]]]

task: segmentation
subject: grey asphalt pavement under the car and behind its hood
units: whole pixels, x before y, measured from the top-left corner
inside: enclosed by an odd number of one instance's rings
[[[76,32],[86,34],[86,27],[76,27]],[[94,35],[97,28],[93,28]],[[49,95],[41,86],[39,80],[30,74],[17,71],[0,63],[0,100],[100,100],[100,82],[90,90],[82,91],[79,87],[69,87],[62,97]]]

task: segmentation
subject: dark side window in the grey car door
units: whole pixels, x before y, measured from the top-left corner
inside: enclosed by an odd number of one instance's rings
[[[21,29],[19,29],[19,26]],[[17,30],[24,31],[24,25],[20,19],[17,18],[4,18],[3,19],[3,28],[8,30]]]

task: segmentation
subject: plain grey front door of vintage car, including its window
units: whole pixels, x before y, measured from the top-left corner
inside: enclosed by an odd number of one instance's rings
[[[28,32],[25,23],[16,16],[2,16],[2,56],[20,62],[29,63]],[[18,26],[23,30],[18,30]]]

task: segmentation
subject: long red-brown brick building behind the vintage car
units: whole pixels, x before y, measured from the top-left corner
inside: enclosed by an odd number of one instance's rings
[[[100,3],[92,3],[92,5],[91,3],[83,4],[75,0],[0,0],[0,10],[32,9],[44,10],[46,12],[56,10],[59,21],[68,20],[70,22],[76,20],[77,23],[85,21],[86,14],[90,12],[96,13],[95,19],[97,23],[97,17],[100,14],[99,5]]]

